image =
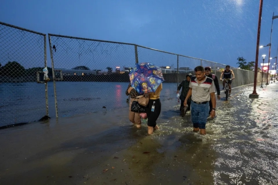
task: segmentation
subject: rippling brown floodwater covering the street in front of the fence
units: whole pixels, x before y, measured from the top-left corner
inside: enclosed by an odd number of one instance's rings
[[[151,136],[127,108],[1,129],[0,184],[278,184],[277,89],[222,92],[204,136],[175,99]]]

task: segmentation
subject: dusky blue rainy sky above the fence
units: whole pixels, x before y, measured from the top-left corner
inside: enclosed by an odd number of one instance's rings
[[[260,45],[278,1],[264,0]],[[41,33],[127,42],[229,64],[255,61],[259,0],[2,0],[0,21]],[[273,20],[271,56],[278,47]],[[268,47],[260,49],[268,58]]]

